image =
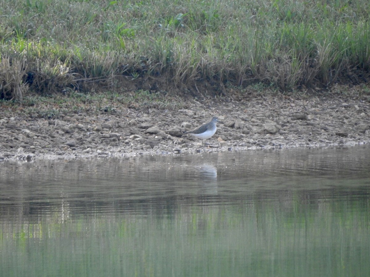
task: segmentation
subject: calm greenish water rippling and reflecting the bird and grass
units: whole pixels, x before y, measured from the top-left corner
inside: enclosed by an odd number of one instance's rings
[[[0,165],[0,276],[369,276],[369,146]]]

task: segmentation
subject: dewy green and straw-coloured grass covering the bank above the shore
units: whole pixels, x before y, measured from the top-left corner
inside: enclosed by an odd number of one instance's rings
[[[66,88],[125,92],[145,89],[143,83],[177,92],[205,83],[330,87],[370,69],[369,6],[367,0],[6,0],[1,98]]]

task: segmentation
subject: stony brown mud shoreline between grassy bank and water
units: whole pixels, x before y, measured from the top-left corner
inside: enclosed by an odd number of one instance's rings
[[[3,111],[0,160],[202,153],[182,132],[218,116],[206,152],[370,143],[370,103],[354,97],[249,96],[187,100],[186,108],[65,112],[57,119]]]

